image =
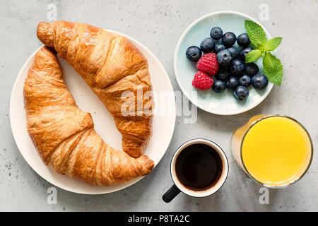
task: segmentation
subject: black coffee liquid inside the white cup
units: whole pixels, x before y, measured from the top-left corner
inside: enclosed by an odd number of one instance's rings
[[[204,191],[218,182],[223,165],[214,148],[205,144],[194,144],[179,153],[175,169],[184,186],[194,191]]]

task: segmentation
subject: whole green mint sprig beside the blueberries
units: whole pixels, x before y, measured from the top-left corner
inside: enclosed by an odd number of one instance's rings
[[[271,51],[281,44],[283,38],[273,37],[271,40],[267,40],[263,28],[251,20],[245,20],[245,30],[254,47],[254,50],[247,54],[245,63],[252,63],[260,57],[264,57],[263,68],[266,77],[271,83],[281,85],[283,81],[283,65],[277,57],[271,54]]]

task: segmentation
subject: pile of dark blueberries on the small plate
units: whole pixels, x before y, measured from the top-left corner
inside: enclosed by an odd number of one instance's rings
[[[189,60],[198,61],[202,52],[217,54],[220,69],[213,78],[214,92],[223,93],[228,88],[237,100],[245,100],[249,96],[250,85],[257,90],[268,85],[269,81],[264,74],[259,73],[257,64],[245,64],[245,57],[253,50],[249,47],[247,33],[236,37],[233,32],[223,34],[223,30],[216,27],[211,29],[210,36],[202,40],[200,47],[189,47],[186,55]]]

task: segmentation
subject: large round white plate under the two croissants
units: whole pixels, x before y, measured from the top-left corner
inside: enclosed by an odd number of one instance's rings
[[[155,109],[153,117],[153,136],[148,143],[145,153],[155,162],[155,165],[157,165],[165,154],[175,129],[175,95],[170,79],[160,64],[160,61],[158,61],[155,55],[143,46],[143,44],[122,33],[110,31],[128,38],[148,59],[151,83],[153,84]],[[143,177],[138,177],[124,184],[114,186],[90,186],[85,182],[57,174],[42,162],[26,128],[23,102],[23,85],[28,75],[28,70],[33,64],[35,53],[36,52],[32,54],[20,70],[16,82],[13,85],[10,101],[10,121],[13,137],[20,153],[30,167],[32,167],[37,174],[46,179],[47,182],[61,189],[78,194],[107,194],[124,189],[142,179]],[[64,59],[59,58],[59,62],[64,72],[66,84],[75,98],[78,107],[83,111],[90,112],[95,124],[95,130],[102,136],[104,141],[112,145],[113,148],[122,150],[122,135],[116,129],[112,115],[107,112],[105,106],[102,105],[102,102],[100,102],[95,93],[90,90],[81,76],[79,76]]]

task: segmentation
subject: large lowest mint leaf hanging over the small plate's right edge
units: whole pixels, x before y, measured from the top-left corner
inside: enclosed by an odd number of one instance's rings
[[[283,81],[283,65],[281,61],[270,52],[266,52],[263,59],[263,70],[271,83],[281,85]]]

